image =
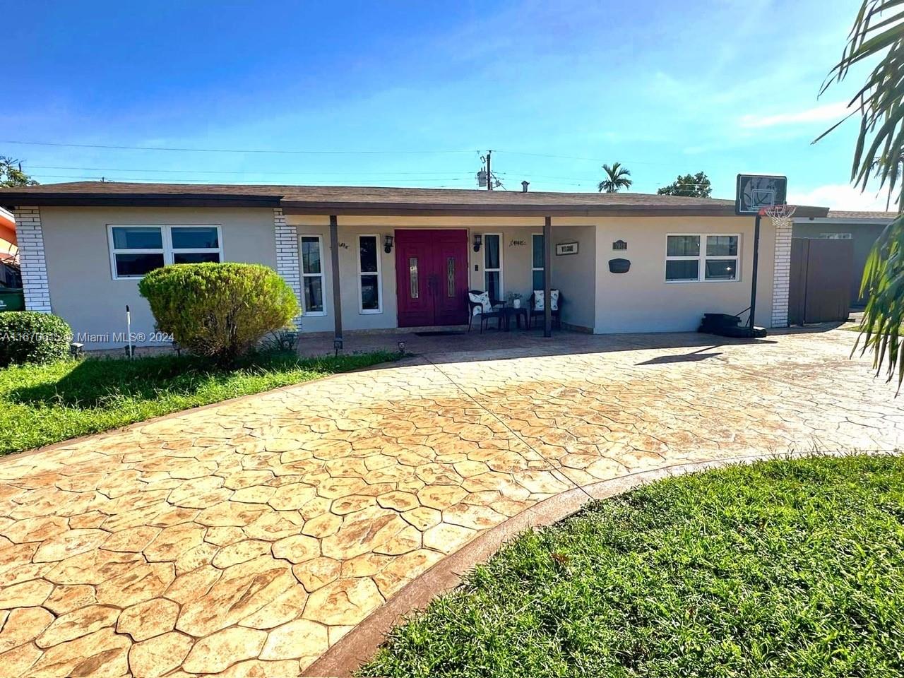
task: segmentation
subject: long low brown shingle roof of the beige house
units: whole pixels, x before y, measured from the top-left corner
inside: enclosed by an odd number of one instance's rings
[[[74,182],[0,189],[0,204],[243,204],[307,213],[734,213],[734,201],[646,193],[550,193],[381,186]],[[819,207],[799,208],[824,216]]]

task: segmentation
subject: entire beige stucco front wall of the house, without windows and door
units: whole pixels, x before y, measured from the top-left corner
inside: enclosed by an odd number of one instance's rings
[[[213,223],[221,226],[224,259],[255,261],[276,267],[273,212],[269,209],[189,208],[49,208],[41,210],[52,309],[77,333],[107,334],[125,329],[125,306],[133,312],[133,330],[150,333],[154,321],[136,280],[114,280],[110,272],[109,223]],[[551,281],[567,302],[563,320],[597,333],[672,332],[696,329],[706,311],[738,313],[749,304],[753,219],[727,218],[554,218],[552,246],[578,241],[579,254],[552,257]],[[287,215],[297,234],[319,235],[324,243],[325,315],[307,315],[303,332],[330,332],[334,304],[327,216]],[[541,218],[340,217],[339,261],[346,330],[380,330],[397,326],[395,252],[382,249],[383,237],[407,228],[458,228],[501,233],[504,292],[519,292],[526,303],[532,291],[532,234]],[[665,242],[669,233],[739,233],[740,277],[737,282],[666,283]],[[379,314],[362,314],[357,285],[357,236],[374,234],[380,242]],[[775,234],[763,220],[760,244],[758,314],[768,325],[772,302]],[[626,251],[613,251],[626,240]],[[626,274],[608,271],[608,259],[631,260]],[[468,247],[468,275],[473,288],[484,284],[484,250]],[[89,348],[96,347],[85,342]]]

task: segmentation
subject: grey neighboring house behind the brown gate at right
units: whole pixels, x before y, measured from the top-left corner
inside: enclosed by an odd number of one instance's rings
[[[864,306],[860,296],[863,268],[873,243],[896,212],[843,212],[830,210],[827,216],[801,215],[794,220],[794,237],[809,239],[853,240],[853,273],[851,278],[851,306]]]

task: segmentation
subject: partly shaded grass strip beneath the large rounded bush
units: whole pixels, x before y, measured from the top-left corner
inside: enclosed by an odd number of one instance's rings
[[[0,454],[398,357],[378,352],[299,359],[295,353],[259,353],[233,370],[169,355],[7,367],[0,370]]]

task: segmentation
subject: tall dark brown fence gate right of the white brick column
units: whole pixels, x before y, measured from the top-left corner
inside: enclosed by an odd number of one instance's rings
[[[853,240],[791,240],[788,325],[847,320]]]

